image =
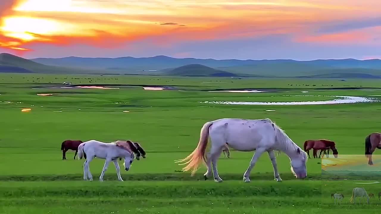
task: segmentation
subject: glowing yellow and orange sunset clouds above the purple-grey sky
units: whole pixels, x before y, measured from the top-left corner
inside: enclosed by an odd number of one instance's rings
[[[377,15],[380,5],[376,0],[2,1],[6,4],[0,7],[0,47],[19,51],[36,43],[116,48],[144,38],[167,46],[274,34],[298,35],[297,42],[367,41],[374,37],[360,31],[307,33],[322,22],[361,18],[363,11]]]

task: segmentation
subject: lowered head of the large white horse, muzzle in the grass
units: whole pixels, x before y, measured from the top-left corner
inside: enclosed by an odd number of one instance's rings
[[[307,153],[300,148],[295,150],[295,155],[290,157],[291,172],[297,179],[304,179],[307,177]]]

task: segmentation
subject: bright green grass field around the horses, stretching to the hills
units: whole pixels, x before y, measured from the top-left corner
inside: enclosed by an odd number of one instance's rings
[[[53,83],[177,85],[147,91],[141,86],[120,89],[50,88]],[[211,83],[204,83],[211,82]],[[51,84],[51,85],[49,85]],[[315,85],[315,86],[313,86]],[[39,88],[40,89],[32,89]],[[339,154],[362,154],[365,137],[378,131],[379,102],[337,105],[219,105],[200,101],[317,101],[327,97],[283,95],[380,95],[381,90],[314,90],[332,87],[377,87],[373,80],[176,78],[128,75],[0,74],[0,209],[1,213],[321,213],[321,160],[307,162],[308,176],[296,180],[288,157],[277,157],[282,183],[273,180],[272,164],[263,155],[242,181],[253,152],[231,150],[221,155],[216,184],[203,180],[202,167],[191,177],[173,160],[186,157],[197,145],[202,125],[218,118],[271,118],[299,146],[307,139],[336,142]],[[285,88],[266,93],[221,93],[224,88]],[[181,91],[179,91],[181,90]],[[302,93],[301,91],[309,91]],[[52,93],[52,96],[38,96]],[[377,96],[373,96],[377,98]],[[21,112],[23,108],[32,109]],[[266,112],[274,109],[274,112]],[[128,110],[129,112],[123,112]],[[83,160],[67,152],[66,139],[140,142],[147,158],[135,160],[116,181],[110,164],[98,181],[104,160],[90,164],[93,182],[82,181]],[[377,151],[376,151],[377,152]],[[312,157],[312,151],[311,151]],[[366,159],[364,159],[366,161]],[[348,194],[346,194],[348,195]],[[21,199],[21,200],[20,200]],[[324,202],[325,203],[325,202]],[[323,203],[323,205],[324,205]],[[333,201],[332,201],[333,204]],[[280,209],[281,208],[281,209]],[[330,211],[324,211],[331,213]],[[334,213],[334,212],[332,212]],[[336,211],[335,211],[336,213]]]

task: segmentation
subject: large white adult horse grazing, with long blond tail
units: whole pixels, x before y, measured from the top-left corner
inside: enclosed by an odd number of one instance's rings
[[[211,148],[208,157],[205,157],[209,135]],[[193,176],[199,164],[204,160],[207,165],[207,172],[204,174],[205,180],[211,176],[213,164],[214,179],[216,182],[222,182],[217,171],[217,160],[225,144],[228,144],[229,147],[237,151],[248,152],[255,150],[250,165],[245,174],[243,174],[245,182],[250,182],[250,172],[264,152],[269,153],[274,168],[274,180],[282,181],[278,173],[274,150],[283,151],[287,154],[291,161],[291,172],[297,179],[307,177],[307,153],[296,145],[279,126],[267,118],[261,120],[223,118],[209,121],[201,129],[200,141],[196,149],[188,157],[182,160],[175,160],[175,162],[185,162],[179,164],[187,164],[187,166],[182,168],[182,171],[192,169]]]

